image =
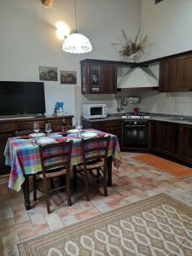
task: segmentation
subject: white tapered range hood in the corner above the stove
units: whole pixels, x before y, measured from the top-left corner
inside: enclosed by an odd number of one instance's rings
[[[145,88],[159,86],[159,65],[150,67],[118,67],[117,88]]]

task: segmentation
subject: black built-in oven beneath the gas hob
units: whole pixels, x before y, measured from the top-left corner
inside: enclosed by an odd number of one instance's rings
[[[123,120],[123,148],[148,149],[148,120]]]

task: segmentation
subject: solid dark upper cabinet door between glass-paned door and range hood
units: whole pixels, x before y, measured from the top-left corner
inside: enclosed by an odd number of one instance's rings
[[[101,67],[102,93],[116,93],[117,92],[117,74],[116,67],[102,66]]]

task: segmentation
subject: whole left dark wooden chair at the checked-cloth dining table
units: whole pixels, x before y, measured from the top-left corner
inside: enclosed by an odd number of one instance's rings
[[[41,158],[42,173],[37,176],[43,180],[44,184],[44,196],[47,205],[47,212],[50,213],[49,206],[49,192],[58,189],[67,189],[67,205],[71,206],[71,192],[70,192],[70,164],[72,153],[73,141],[63,143],[51,143],[48,145],[39,145],[39,153]],[[53,162],[54,161],[54,162]],[[62,185],[55,189],[49,189],[48,180],[55,177],[66,176],[66,185]],[[33,179],[33,196],[34,200],[37,200],[37,183],[36,175]]]

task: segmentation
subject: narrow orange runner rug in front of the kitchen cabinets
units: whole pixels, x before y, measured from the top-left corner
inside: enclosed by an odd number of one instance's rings
[[[154,154],[139,154],[133,157],[149,166],[153,166],[160,171],[169,172],[175,177],[184,178],[192,175],[192,169],[186,166],[179,165],[170,160],[163,159]]]

